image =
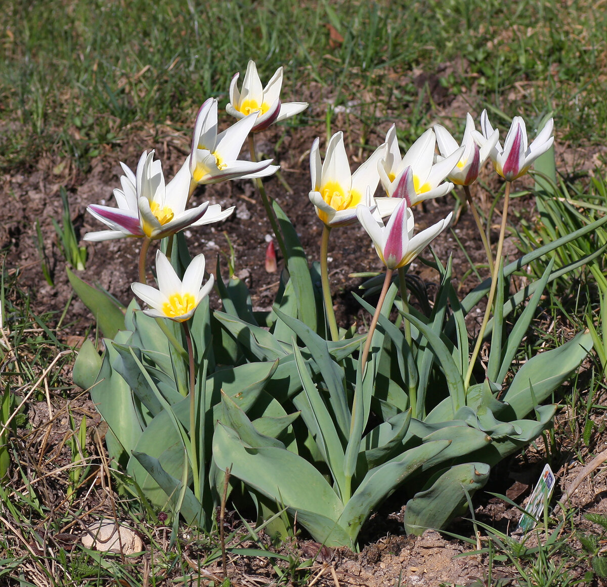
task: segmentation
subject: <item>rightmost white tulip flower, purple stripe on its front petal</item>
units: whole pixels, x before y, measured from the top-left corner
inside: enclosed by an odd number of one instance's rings
[[[514,179],[527,173],[535,159],[543,155],[554,143],[553,129],[554,119],[551,118],[544,124],[544,128],[540,130],[535,140],[527,147],[525,121],[521,116],[515,116],[506,135],[504,148],[502,149],[498,141],[489,151],[489,156],[498,174],[506,181],[514,181]],[[481,130],[482,134],[475,130],[473,136],[482,149],[489,142],[489,138],[494,132],[489,122],[489,116],[487,116],[487,110],[483,110],[481,113]]]

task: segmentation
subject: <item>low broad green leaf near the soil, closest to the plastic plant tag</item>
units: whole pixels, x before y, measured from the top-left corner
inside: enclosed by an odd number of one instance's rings
[[[407,534],[420,535],[428,528],[446,528],[456,515],[463,513],[468,497],[484,487],[489,471],[485,463],[463,463],[446,469],[430,489],[407,501]]]

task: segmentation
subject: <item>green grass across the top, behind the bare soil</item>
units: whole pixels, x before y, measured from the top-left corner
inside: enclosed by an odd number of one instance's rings
[[[6,4],[5,168],[49,150],[86,166],[132,125],[189,130],[195,109],[210,95],[225,100],[251,58],[265,80],[284,65],[293,99],[317,82],[334,106],[363,102],[354,110],[367,126],[390,110],[407,143],[436,116],[432,84],[416,81],[418,72],[438,76],[447,96],[463,95],[477,113],[503,113],[500,122],[554,112],[566,139],[605,136],[607,13],[586,2],[325,0],[296,13],[286,0]],[[331,29],[342,42],[331,41]]]

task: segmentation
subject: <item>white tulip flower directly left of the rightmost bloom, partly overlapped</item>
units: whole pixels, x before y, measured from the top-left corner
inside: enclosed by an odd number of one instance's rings
[[[466,129],[464,129],[464,136],[461,141],[464,152],[452,172],[447,175],[447,179],[458,186],[469,186],[476,181],[481,166],[487,161],[489,153],[500,138],[500,133],[497,130],[494,130],[490,133],[489,138],[484,141],[483,146],[480,147],[473,138],[472,133],[474,130],[474,119],[470,113],[467,113]],[[436,156],[436,161],[442,161],[459,149],[457,141],[444,126],[436,124],[434,126],[434,132],[436,135],[436,144],[441,153]]]

